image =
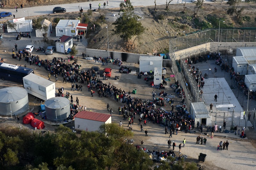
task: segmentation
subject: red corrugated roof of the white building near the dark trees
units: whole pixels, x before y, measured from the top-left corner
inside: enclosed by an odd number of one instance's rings
[[[81,118],[81,119],[88,119],[92,121],[106,122],[109,119],[109,117],[111,117],[111,115],[105,114],[105,113],[80,111],[74,117]]]

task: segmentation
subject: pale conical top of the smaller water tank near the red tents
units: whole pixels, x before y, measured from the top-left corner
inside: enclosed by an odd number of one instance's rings
[[[64,108],[69,105],[69,100],[66,97],[53,97],[44,102],[45,107],[52,109]]]

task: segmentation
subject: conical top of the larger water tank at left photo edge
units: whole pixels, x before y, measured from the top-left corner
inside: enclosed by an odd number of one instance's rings
[[[6,87],[0,89],[0,103],[9,103],[19,101],[26,97],[28,92],[24,88],[20,87]]]

